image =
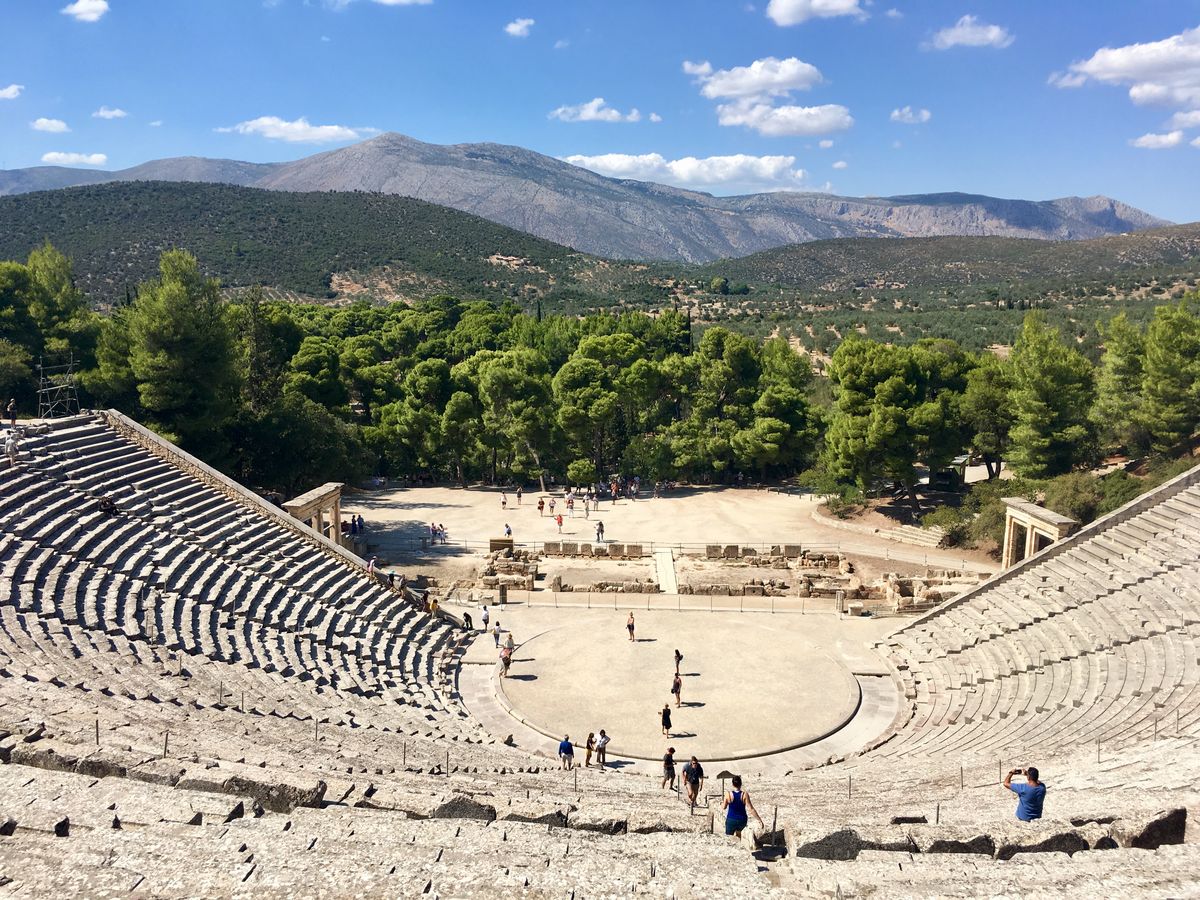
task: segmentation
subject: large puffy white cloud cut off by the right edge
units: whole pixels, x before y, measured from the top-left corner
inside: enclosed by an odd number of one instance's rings
[[[1104,47],[1050,76],[1058,88],[1128,84],[1134,103],[1200,106],[1200,26],[1150,43]]]

